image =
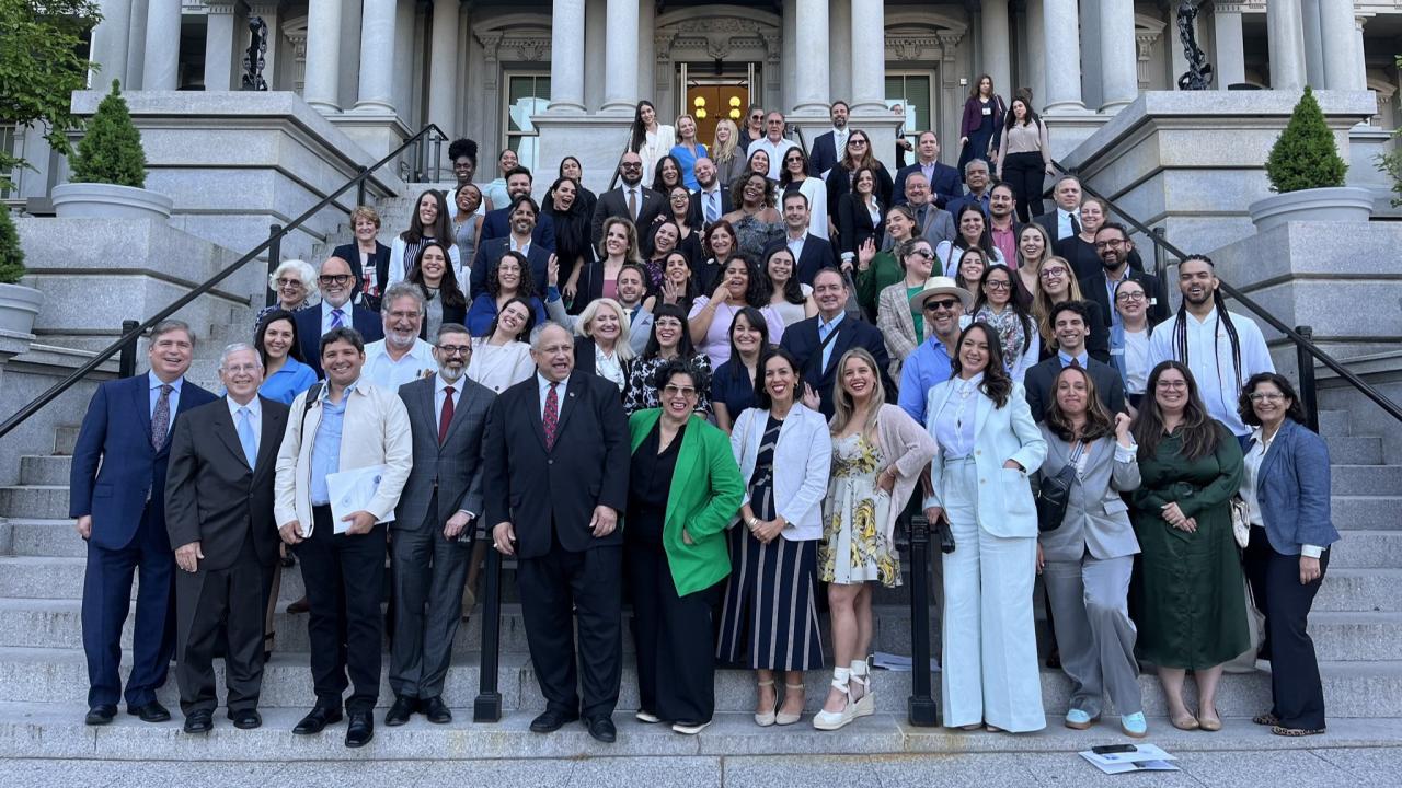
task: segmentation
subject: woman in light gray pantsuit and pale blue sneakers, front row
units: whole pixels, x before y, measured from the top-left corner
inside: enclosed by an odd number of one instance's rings
[[[1130,418],[1115,414],[1110,421],[1082,367],[1063,369],[1052,390],[1042,422],[1047,458],[1037,475],[1054,477],[1071,466],[1075,478],[1060,527],[1039,536],[1037,571],[1047,586],[1061,670],[1071,677],[1066,726],[1085,731],[1095,725],[1101,697],[1109,693],[1120,729],[1138,739],[1148,735],[1148,724],[1127,603],[1138,540],[1120,499],[1120,492],[1140,484],[1138,447],[1130,437]]]

